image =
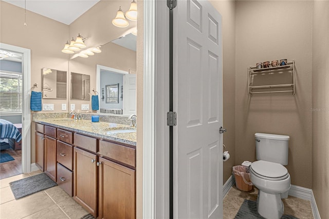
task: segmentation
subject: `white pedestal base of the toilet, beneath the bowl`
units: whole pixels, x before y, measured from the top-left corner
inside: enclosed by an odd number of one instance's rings
[[[284,206],[280,194],[268,194],[259,190],[257,211],[268,219],[279,219],[283,215]]]

